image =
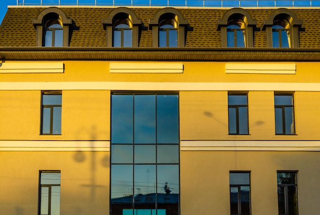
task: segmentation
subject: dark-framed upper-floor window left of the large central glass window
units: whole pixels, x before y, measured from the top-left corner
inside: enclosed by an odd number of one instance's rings
[[[62,95],[57,92],[42,93],[41,134],[61,134]]]

